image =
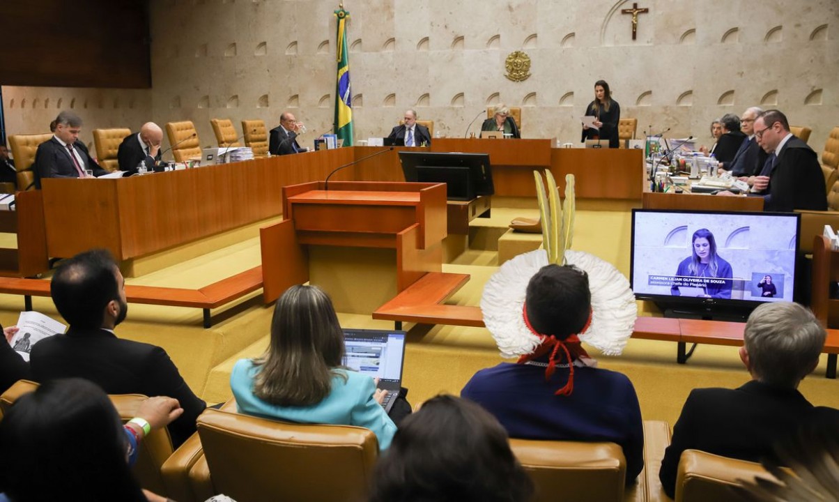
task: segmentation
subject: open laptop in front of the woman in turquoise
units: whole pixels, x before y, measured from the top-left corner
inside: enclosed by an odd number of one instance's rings
[[[385,411],[402,388],[402,365],[405,360],[405,332],[378,329],[344,329],[344,357],[341,364],[358,373],[378,378],[378,388],[387,390],[382,406]]]

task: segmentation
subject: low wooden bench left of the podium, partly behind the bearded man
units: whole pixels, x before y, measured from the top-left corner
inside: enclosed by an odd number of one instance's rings
[[[258,266],[197,290],[125,285],[125,296],[129,303],[200,308],[204,314],[204,327],[211,327],[211,309],[242,298],[262,285],[262,266]],[[0,277],[0,293],[23,295],[23,310],[31,311],[33,296],[50,296],[50,281]]]

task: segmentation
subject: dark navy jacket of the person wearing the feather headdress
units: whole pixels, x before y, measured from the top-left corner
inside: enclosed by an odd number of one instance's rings
[[[632,382],[608,369],[576,368],[571,395],[555,395],[567,379],[567,367],[545,381],[545,368],[500,363],[478,371],[461,397],[492,413],[510,437],[617,443],[633,484],[644,468],[644,425]]]

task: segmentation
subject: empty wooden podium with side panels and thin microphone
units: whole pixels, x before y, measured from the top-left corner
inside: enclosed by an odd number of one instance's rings
[[[260,230],[266,303],[310,281],[337,311],[369,314],[442,269],[443,184],[314,181],[285,186],[283,208]]]

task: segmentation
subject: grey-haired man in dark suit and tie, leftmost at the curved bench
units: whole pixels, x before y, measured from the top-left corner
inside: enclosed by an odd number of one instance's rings
[[[60,112],[55,118],[55,135],[38,145],[35,152],[35,188],[43,178],[84,178],[85,170],[98,177],[107,175],[91,158],[87,147],[79,139],[81,118],[73,112]]]

